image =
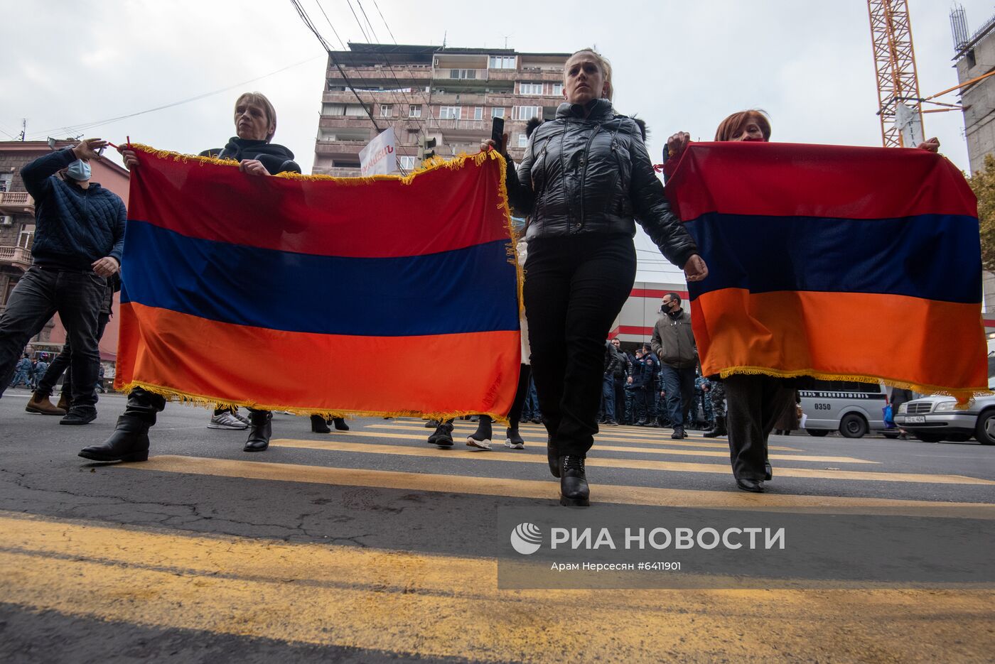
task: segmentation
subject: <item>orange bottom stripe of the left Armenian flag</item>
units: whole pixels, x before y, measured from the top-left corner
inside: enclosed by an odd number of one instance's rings
[[[118,356],[118,389],[139,376],[140,385],[153,391],[161,386],[194,399],[267,410],[294,405],[313,413],[502,419],[514,398],[516,330],[345,336],[220,323],[136,302],[122,304],[121,313],[126,309],[118,346],[137,352]]]

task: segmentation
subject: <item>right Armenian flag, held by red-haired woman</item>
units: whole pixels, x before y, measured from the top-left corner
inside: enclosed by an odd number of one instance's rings
[[[977,202],[917,149],[692,143],[667,184],[709,274],[705,375],[987,391]]]

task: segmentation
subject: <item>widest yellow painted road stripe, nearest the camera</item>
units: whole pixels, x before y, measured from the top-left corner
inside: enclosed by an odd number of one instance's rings
[[[0,600],[70,616],[483,662],[990,654],[988,590],[498,590],[493,559],[8,515]]]

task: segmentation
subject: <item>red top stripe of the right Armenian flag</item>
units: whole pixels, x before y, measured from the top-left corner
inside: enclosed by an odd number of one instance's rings
[[[742,177],[744,168],[762,171],[763,186]],[[927,184],[912,192],[909,182]],[[674,196],[678,189],[680,197]],[[708,212],[834,219],[977,217],[977,202],[960,171],[940,155],[911,148],[692,143],[667,190],[686,222]]]

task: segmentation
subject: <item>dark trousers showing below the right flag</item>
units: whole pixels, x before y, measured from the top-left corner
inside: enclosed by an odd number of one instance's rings
[[[795,384],[772,376],[741,374],[722,379],[722,383],[732,474],[739,479],[762,480],[767,437],[785,410],[794,408]]]

